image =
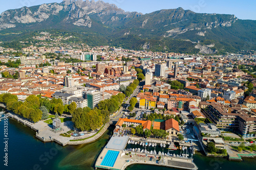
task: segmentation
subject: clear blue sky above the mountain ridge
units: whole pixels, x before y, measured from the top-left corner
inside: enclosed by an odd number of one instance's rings
[[[34,6],[44,3],[60,3],[62,0],[2,0],[0,13],[8,9]],[[96,0],[95,0],[96,1]],[[103,0],[116,4],[125,11],[137,11],[143,14],[161,9],[182,7],[198,13],[234,14],[240,19],[256,20],[255,0]]]

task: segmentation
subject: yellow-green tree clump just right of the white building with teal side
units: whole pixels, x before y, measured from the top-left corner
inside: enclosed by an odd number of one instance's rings
[[[123,103],[124,98],[125,95],[123,93],[118,93],[117,95],[112,95],[110,99],[100,101],[97,107],[100,110],[108,110],[110,113],[115,113]]]

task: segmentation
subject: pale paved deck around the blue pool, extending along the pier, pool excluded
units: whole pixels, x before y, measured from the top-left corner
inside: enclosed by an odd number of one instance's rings
[[[106,153],[108,153],[109,150],[119,151],[119,154],[117,156],[114,166],[108,167],[108,166],[100,165],[104,159],[104,156],[106,155]],[[143,155],[144,157],[141,155]],[[148,156],[152,156],[152,160],[150,160],[150,157]],[[161,161],[158,161],[159,156],[160,155],[151,155],[151,154],[147,154],[146,156],[145,153],[136,153],[136,152],[131,152],[131,154],[129,154],[129,152],[127,151],[104,148],[95,163],[95,167],[96,169],[103,168],[103,169],[124,170],[127,166],[130,166],[132,164],[150,164],[155,166],[166,166],[166,167],[179,168],[179,169],[193,169],[193,170],[198,169],[197,165],[193,162],[192,159],[181,159],[181,158],[164,156],[161,159]]]

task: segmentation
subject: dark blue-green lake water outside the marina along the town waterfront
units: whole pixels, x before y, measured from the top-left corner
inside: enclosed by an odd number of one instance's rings
[[[113,127],[97,141],[79,146],[61,147],[56,143],[42,143],[34,137],[35,132],[30,128],[9,119],[8,124],[8,166],[4,166],[4,122],[0,122],[0,169],[47,169],[47,170],[80,170],[94,169],[94,163],[109,139]],[[245,159],[242,162],[231,162],[223,158],[210,158],[201,154],[194,156],[194,161],[200,170],[252,170],[256,167],[256,159]],[[135,169],[163,169],[172,168],[147,165],[132,165],[129,170]]]

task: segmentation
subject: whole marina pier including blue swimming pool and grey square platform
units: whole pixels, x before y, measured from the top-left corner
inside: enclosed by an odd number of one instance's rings
[[[150,164],[179,169],[198,169],[190,158],[153,155],[125,150],[128,136],[112,136],[96,160],[95,168],[124,170],[132,164]]]

